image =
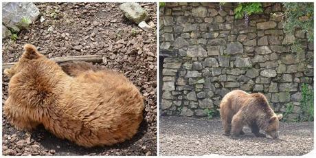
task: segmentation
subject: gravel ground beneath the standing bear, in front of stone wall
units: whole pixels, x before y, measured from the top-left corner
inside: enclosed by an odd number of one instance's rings
[[[313,122],[280,124],[279,139],[255,137],[249,128],[232,139],[221,120],[159,118],[159,155],[304,155],[313,150]]]

